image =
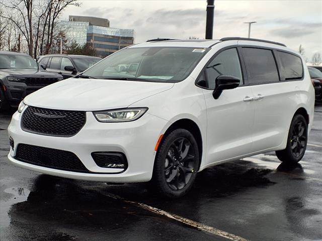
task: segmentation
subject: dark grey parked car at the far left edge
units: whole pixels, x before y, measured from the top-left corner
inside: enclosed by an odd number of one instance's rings
[[[39,71],[27,54],[0,51],[0,110],[18,106],[26,95],[62,79],[60,74]]]

